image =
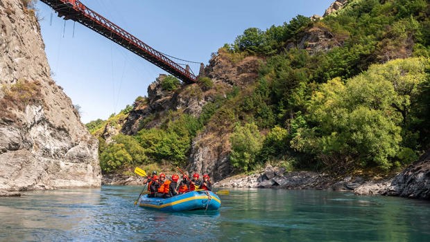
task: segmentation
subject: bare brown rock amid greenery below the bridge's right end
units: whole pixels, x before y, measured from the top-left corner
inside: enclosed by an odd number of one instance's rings
[[[198,117],[207,102],[214,102],[216,96],[225,97],[233,86],[246,88],[257,80],[261,59],[243,57],[233,61],[227,53],[221,51],[214,55],[209,66],[202,74],[213,82],[211,89],[201,84],[182,86],[177,91],[164,91],[161,82],[166,75],[160,75],[148,86],[148,98],[145,102],[135,105],[121,133],[133,135],[140,129],[150,129],[162,124],[163,115],[167,111],[183,111]],[[208,173],[213,181],[221,180],[232,172],[228,155],[230,153],[230,133],[232,129],[222,124],[210,127],[199,133],[191,145],[191,171],[200,174]]]

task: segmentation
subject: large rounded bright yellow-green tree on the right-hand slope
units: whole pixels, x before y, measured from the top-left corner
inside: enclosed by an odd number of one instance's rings
[[[388,169],[402,140],[397,125],[401,119],[391,105],[396,99],[393,85],[370,72],[346,84],[331,80],[307,105],[306,123],[313,127],[299,128],[291,144],[312,151],[331,167],[354,162]]]

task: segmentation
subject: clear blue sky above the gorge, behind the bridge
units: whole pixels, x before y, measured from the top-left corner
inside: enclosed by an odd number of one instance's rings
[[[246,28],[266,30],[297,15],[322,16],[334,0],[80,1],[155,50],[206,65]],[[119,113],[166,73],[89,28],[60,19],[44,3],[36,8],[53,79],[81,107],[82,122]],[[199,65],[190,67],[197,75]]]

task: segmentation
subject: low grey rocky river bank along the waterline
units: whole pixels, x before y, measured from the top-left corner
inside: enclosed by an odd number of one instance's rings
[[[141,176],[105,174],[102,185],[143,185]],[[214,187],[270,188],[270,189],[325,189],[354,192],[357,195],[386,195],[430,200],[430,151],[390,178],[365,176],[335,177],[312,171],[289,171],[267,165],[255,174],[239,174],[219,180]],[[19,192],[0,191],[0,196],[20,196]]]

